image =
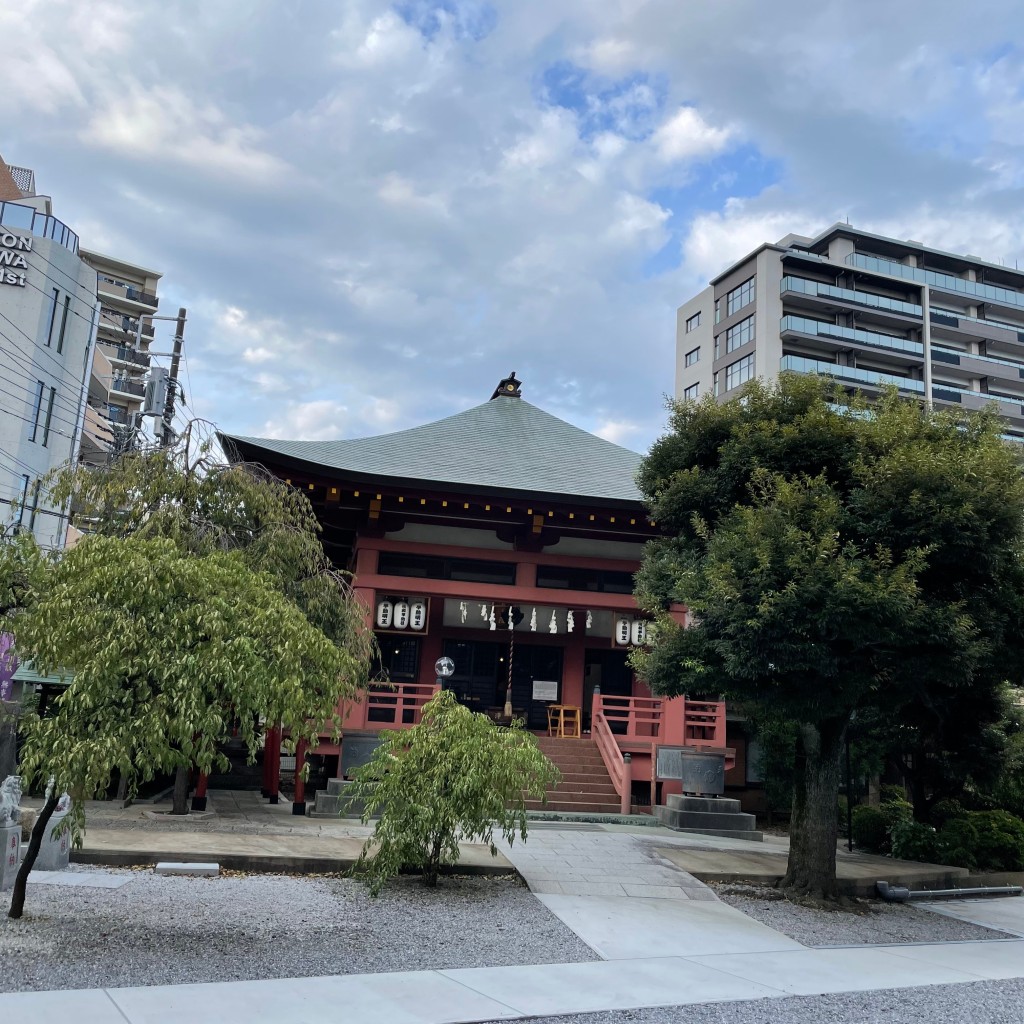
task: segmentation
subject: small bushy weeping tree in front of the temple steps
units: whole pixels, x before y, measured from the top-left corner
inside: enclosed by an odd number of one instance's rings
[[[377,893],[403,868],[437,885],[444,864],[459,859],[459,841],[494,835],[526,839],[526,799],[540,799],[558,769],[521,727],[503,729],[441,690],[423,708],[419,725],[381,733],[381,745],[357,769],[350,799],[362,820],[379,815],[354,871]]]

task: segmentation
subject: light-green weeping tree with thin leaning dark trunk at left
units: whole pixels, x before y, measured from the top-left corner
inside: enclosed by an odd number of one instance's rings
[[[131,791],[182,766],[222,768],[232,720],[251,753],[260,719],[312,741],[324,723],[340,727],[338,703],[366,673],[239,552],[187,555],[166,538],[85,538],[19,617],[17,644],[40,671],[75,676],[52,714],[25,728],[26,782],[53,784],[12,918],[60,794],[72,795],[80,827],[82,801],[104,793],[115,769]]]

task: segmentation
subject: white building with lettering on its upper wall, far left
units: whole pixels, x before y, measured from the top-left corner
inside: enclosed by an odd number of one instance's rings
[[[0,161],[0,521],[44,547],[63,545],[68,517],[40,480],[77,458],[84,430],[110,443],[86,412],[109,388],[92,362],[97,315],[78,236],[31,170]]]

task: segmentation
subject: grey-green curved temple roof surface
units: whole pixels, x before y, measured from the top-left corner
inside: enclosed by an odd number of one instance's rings
[[[246,459],[285,456],[365,479],[640,503],[641,456],[499,395],[435,423],[336,441],[221,435]]]

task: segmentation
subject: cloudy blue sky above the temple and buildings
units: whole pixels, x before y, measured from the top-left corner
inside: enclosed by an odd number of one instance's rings
[[[642,452],[676,308],[761,243],[1024,260],[1018,0],[19,0],[0,39],[0,155],[163,272],[232,433],[399,430],[514,370]]]

